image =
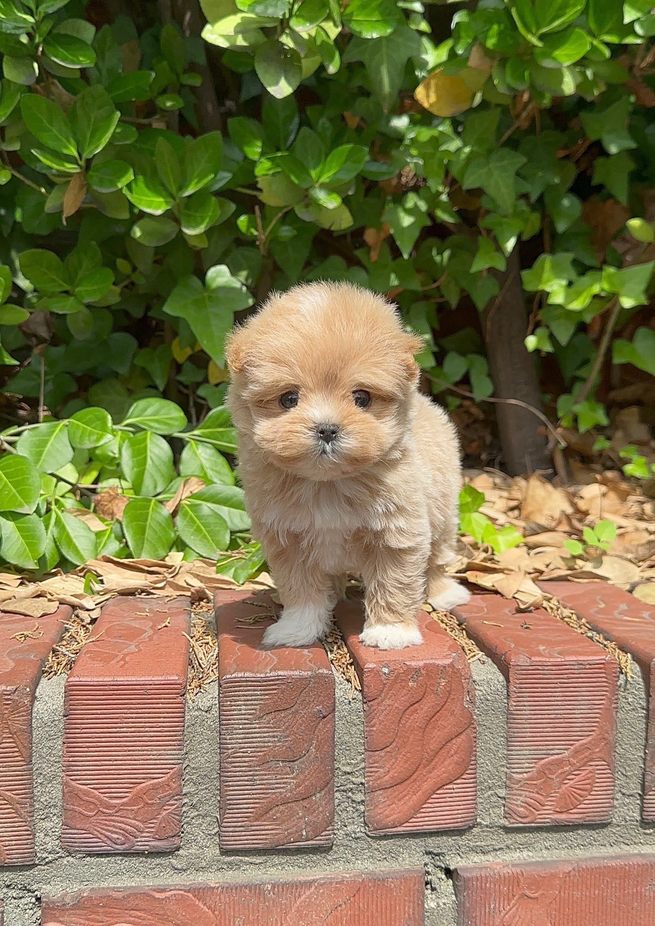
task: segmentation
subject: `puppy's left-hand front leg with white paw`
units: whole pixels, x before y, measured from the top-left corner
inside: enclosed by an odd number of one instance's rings
[[[335,603],[332,579],[307,562],[295,546],[268,550],[268,565],[283,604],[277,623],[263,638],[265,646],[310,646],[325,636]]]

